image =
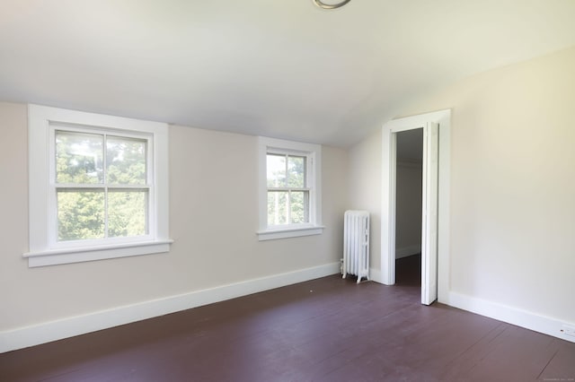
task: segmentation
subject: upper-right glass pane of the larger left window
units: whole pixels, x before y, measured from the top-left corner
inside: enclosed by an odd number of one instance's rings
[[[146,140],[106,139],[106,180],[110,184],[146,184]]]

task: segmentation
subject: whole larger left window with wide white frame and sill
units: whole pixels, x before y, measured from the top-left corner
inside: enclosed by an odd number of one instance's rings
[[[31,105],[30,266],[169,250],[167,126]]]

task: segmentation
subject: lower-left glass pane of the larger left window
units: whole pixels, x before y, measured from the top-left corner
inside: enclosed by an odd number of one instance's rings
[[[103,191],[57,191],[57,239],[81,240],[104,237]]]

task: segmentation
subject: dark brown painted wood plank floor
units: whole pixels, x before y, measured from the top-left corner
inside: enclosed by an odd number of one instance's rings
[[[574,380],[575,343],[423,307],[417,266],[398,260],[393,287],[334,275],[7,352],[0,381]]]

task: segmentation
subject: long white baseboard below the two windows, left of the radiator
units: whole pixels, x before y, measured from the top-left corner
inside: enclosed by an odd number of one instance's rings
[[[20,327],[0,332],[0,353],[40,343],[49,343],[113,326],[129,324],[146,318],[163,316],[218,301],[230,300],[339,272],[340,263],[331,263],[289,273],[274,274],[245,282],[236,282],[207,290],[192,291],[164,299],[111,308],[82,316],[66,317],[39,325]]]

